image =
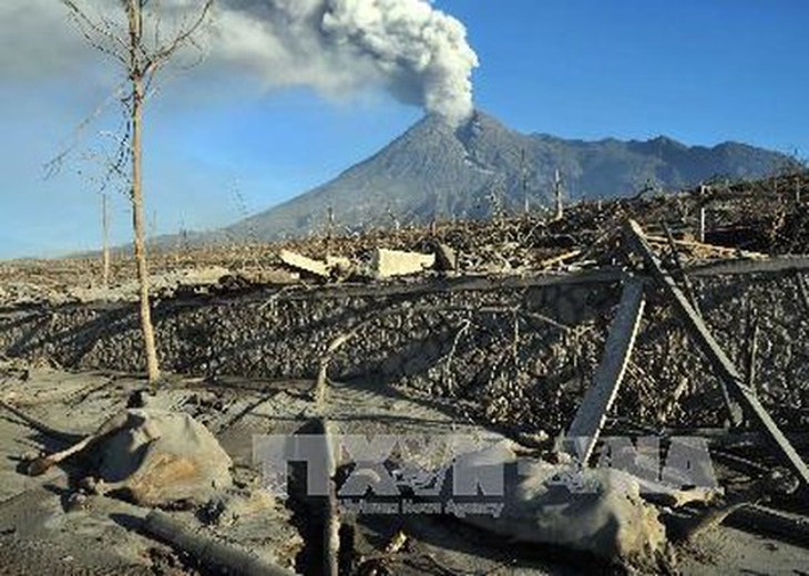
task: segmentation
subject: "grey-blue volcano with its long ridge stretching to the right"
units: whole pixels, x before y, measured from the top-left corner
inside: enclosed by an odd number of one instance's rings
[[[389,226],[437,218],[479,218],[493,206],[549,205],[556,169],[569,198],[633,194],[647,183],[677,189],[720,175],[760,177],[788,162],[745,144],[688,147],[647,142],[570,141],[521,134],[477,112],[453,130],[427,116],[337,178],[242,220],[228,236],[276,239],[322,230],[328,209],[339,226]]]

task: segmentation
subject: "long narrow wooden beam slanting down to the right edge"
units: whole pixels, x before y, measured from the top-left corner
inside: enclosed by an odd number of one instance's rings
[[[705,326],[703,318],[694,310],[688,298],[677,287],[672,277],[667,275],[649,245],[644,239],[643,228],[629,220],[627,226],[628,238],[637,253],[643,257],[648,271],[652,274],[664,292],[672,300],[675,311],[680,317],[689,335],[696,342],[699,350],[706,356],[717,377],[725,382],[728,392],[739,402],[748,413],[750,421],[758,424],[769,436],[777,449],[780,460],[798,475],[805,484],[809,484],[809,467],[801,460],[789,440],[784,435],[778,425],[772,421],[767,410],[756,398],[756,394],[745,383],[741,374],[730,359],[725,354],[719,343]]]

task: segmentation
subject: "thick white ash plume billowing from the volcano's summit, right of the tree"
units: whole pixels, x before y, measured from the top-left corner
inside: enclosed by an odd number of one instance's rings
[[[453,124],[472,113],[478,56],[463,24],[426,0],[224,0],[211,40],[213,60],[268,88],[378,85]]]

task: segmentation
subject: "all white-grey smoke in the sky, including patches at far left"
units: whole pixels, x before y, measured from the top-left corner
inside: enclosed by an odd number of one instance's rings
[[[161,2],[181,19],[199,4]],[[82,6],[120,12],[119,0]],[[250,73],[266,89],[344,95],[378,86],[452,123],[472,112],[478,56],[463,24],[428,0],[218,0],[201,40],[206,65]],[[17,76],[74,68],[90,53],[57,0],[3,0],[0,49],[0,75]]]

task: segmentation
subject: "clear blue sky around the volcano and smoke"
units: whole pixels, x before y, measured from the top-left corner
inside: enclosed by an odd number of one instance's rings
[[[434,6],[465,24],[478,53],[475,105],[514,128],[587,140],[735,140],[809,156],[809,2]],[[0,25],[6,53],[16,41],[8,30],[8,22]],[[94,162],[82,157],[110,141],[114,107],[84,131],[58,175],[43,179],[42,169],[114,84],[103,58],[82,59],[61,64],[69,74],[0,70],[0,258],[99,246],[99,199],[88,175]],[[28,65],[3,63],[12,64]],[[255,79],[204,65],[170,74],[146,116],[151,229],[213,228],[266,209],[366,158],[421,115],[377,89],[324,99],[300,88],[266,91]],[[116,193],[115,241],[127,241],[129,223],[126,199]]]

